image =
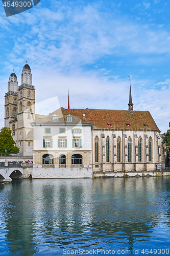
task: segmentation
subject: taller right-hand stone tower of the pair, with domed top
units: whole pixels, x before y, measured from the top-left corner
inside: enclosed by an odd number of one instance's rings
[[[18,155],[29,157],[33,155],[31,122],[35,119],[35,88],[32,86],[32,73],[28,63],[22,69],[21,85],[18,87],[17,110],[17,146],[20,149]]]

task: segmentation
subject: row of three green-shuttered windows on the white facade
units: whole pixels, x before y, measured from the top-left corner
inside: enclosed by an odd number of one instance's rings
[[[53,147],[53,139],[52,138],[43,138],[43,147]],[[67,147],[67,138],[58,138],[58,147],[66,148]],[[81,148],[82,147],[82,139],[80,139],[80,138],[72,139],[72,147],[73,148]]]

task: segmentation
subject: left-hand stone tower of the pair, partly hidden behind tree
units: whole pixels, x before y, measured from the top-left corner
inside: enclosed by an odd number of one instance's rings
[[[13,73],[10,75],[8,81],[8,92],[5,94],[5,126],[9,128],[10,123],[17,118],[17,91],[18,81],[13,70]]]

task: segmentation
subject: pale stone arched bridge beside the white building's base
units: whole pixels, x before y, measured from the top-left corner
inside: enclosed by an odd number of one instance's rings
[[[16,178],[28,178],[32,175],[32,166],[1,166],[0,182],[10,182]]]

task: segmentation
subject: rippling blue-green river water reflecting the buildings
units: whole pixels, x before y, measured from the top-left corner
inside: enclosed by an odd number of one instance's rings
[[[170,177],[13,180],[0,202],[0,255],[170,255]]]

